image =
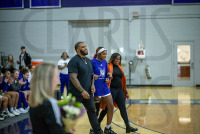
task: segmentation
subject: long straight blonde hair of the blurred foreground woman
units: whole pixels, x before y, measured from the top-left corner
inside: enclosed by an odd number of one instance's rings
[[[45,99],[53,97],[53,76],[55,65],[51,63],[39,64],[31,78],[31,107],[37,107],[42,104]]]

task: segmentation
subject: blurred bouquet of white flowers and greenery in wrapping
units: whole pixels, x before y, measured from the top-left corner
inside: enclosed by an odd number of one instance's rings
[[[65,93],[64,93],[65,94]],[[73,133],[78,120],[85,114],[85,108],[76,98],[69,94],[68,97],[63,95],[64,100],[58,102],[61,110],[61,117],[66,132]]]

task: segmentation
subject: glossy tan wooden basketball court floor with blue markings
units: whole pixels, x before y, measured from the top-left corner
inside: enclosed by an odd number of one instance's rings
[[[127,113],[131,126],[139,129],[136,134],[200,134],[200,87],[138,87],[128,91]],[[18,118],[7,119],[8,125],[3,128],[0,125],[0,134],[31,134],[28,114]],[[102,129],[105,125],[106,118]],[[118,109],[114,110],[112,128],[125,134]],[[88,134],[89,129],[85,114],[76,126],[76,134]]]

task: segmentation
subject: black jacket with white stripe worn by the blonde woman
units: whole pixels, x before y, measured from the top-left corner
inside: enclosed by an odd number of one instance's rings
[[[53,110],[54,109],[54,110]],[[52,99],[43,101],[42,105],[30,108],[30,119],[34,134],[68,134],[61,126],[57,102]]]

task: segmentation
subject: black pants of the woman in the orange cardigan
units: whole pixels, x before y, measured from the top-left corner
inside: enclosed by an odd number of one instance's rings
[[[120,114],[121,117],[124,120],[124,123],[126,124],[126,127],[129,127],[129,121],[128,121],[128,115],[126,112],[126,105],[125,105],[125,96],[124,96],[124,92],[121,88],[110,88],[111,94],[112,94],[112,98],[113,98],[113,102],[116,102],[119,110],[120,110]],[[103,120],[103,118],[105,117],[105,115],[107,114],[107,107],[105,110],[102,110],[98,119],[98,122],[101,123],[101,121]]]

